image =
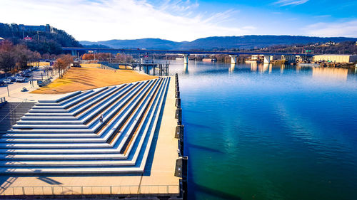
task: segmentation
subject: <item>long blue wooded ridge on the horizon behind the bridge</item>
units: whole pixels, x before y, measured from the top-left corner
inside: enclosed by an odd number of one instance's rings
[[[162,50],[221,50],[221,49],[253,49],[276,45],[326,43],[334,41],[357,41],[357,38],[344,37],[308,37],[308,36],[226,36],[199,38],[191,42],[174,42],[159,38],[137,40],[80,41],[83,45],[105,45],[111,48],[146,48]]]

